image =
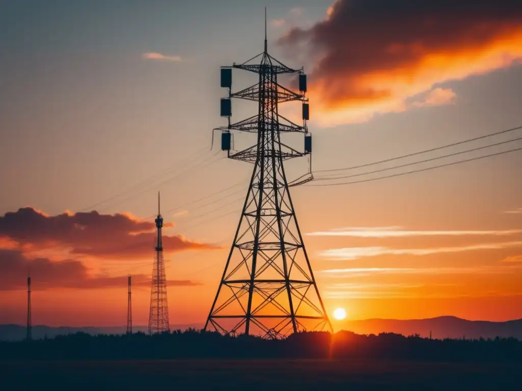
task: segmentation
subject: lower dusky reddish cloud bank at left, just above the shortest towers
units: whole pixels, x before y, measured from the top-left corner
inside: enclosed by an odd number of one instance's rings
[[[0,250],[0,290],[27,288],[27,275],[31,273],[31,288],[125,288],[127,276],[92,275],[82,262],[64,260],[52,262],[46,258],[27,259],[21,251]],[[133,275],[133,286],[150,287],[151,278],[143,274]],[[169,280],[168,286],[201,285],[191,280]]]

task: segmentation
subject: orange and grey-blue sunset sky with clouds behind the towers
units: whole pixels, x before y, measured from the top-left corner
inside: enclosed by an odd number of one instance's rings
[[[522,151],[364,181],[522,141],[357,175],[522,129],[321,172],[522,126],[522,4],[17,0],[0,6],[0,323],[25,323],[30,270],[33,324],[124,325],[129,273],[147,324],[158,191],[170,323],[205,321],[252,174],[210,150],[219,71],[263,51],[265,5],[269,53],[308,75],[317,180],[291,191],[330,316],[522,318]]]

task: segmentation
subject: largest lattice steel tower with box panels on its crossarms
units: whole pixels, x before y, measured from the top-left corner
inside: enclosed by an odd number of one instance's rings
[[[233,93],[232,69],[253,72],[259,82]],[[299,75],[299,93],[278,83],[281,74]],[[205,330],[270,339],[325,327],[331,331],[289,191],[313,177],[309,173],[289,183],[283,167],[283,161],[312,152],[306,75],[267,53],[266,8],[264,52],[243,64],[221,67],[221,87],[228,89],[228,97],[221,99],[228,126],[215,129],[221,130],[221,149],[229,158],[253,163],[254,169]],[[231,124],[232,97],[257,102],[257,115]],[[289,101],[302,102],[303,125],[278,113],[278,104]],[[231,151],[231,129],[256,133],[256,145]],[[281,133],[303,133],[304,151],[283,143]]]

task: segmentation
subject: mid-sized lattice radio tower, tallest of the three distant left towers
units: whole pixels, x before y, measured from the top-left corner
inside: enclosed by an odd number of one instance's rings
[[[169,332],[169,307],[167,306],[167,278],[165,278],[165,262],[161,246],[161,227],[163,217],[160,213],[160,193],[158,192],[158,241],[156,244],[156,260],[152,268],[152,289],[150,294],[149,334]]]

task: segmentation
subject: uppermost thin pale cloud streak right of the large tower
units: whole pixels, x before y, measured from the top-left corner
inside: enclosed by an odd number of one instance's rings
[[[405,230],[402,227],[346,227],[317,231],[309,236],[350,236],[355,238],[399,238],[410,236],[504,236],[522,233],[522,229],[505,230]]]

